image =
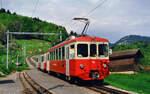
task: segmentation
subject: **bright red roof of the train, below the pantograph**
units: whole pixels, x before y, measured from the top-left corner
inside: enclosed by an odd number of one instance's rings
[[[46,52],[49,52],[53,49],[56,49],[60,46],[63,46],[65,44],[68,44],[68,43],[72,43],[72,42],[76,42],[76,41],[95,41],[95,42],[108,42],[107,39],[104,39],[104,38],[99,38],[99,37],[92,37],[92,36],[82,36],[82,37],[77,37],[77,38],[74,38],[74,39],[71,39],[71,40],[66,40],[58,45],[55,45],[54,47],[48,49]]]

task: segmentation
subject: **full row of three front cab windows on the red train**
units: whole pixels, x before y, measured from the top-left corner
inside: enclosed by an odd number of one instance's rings
[[[108,44],[78,44],[77,56],[79,58],[108,57]]]

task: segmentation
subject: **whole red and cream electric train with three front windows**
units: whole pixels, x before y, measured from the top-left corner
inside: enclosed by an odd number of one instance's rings
[[[41,55],[41,69],[82,80],[102,80],[109,75],[107,39],[82,36],[58,44]],[[45,58],[44,58],[45,57]]]

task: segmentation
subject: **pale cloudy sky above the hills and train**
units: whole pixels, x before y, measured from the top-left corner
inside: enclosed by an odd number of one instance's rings
[[[64,26],[68,33],[73,30],[80,34],[84,24],[72,19],[86,17],[90,20],[87,34],[106,38],[112,43],[126,35],[150,36],[150,0],[1,1],[1,7],[11,12]],[[100,7],[90,12],[99,4]]]

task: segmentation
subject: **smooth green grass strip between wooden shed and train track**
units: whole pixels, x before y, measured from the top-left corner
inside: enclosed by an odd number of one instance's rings
[[[150,93],[150,75],[148,74],[111,74],[105,79],[105,82],[140,94]]]

